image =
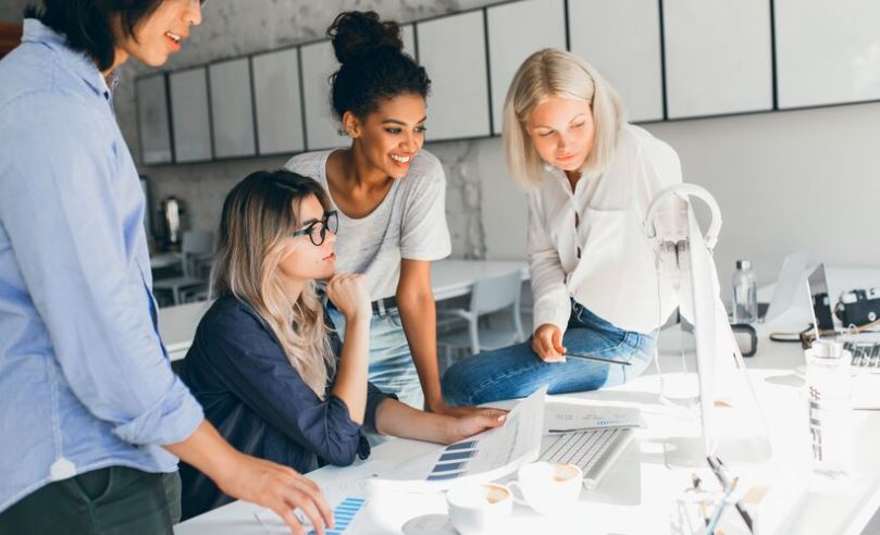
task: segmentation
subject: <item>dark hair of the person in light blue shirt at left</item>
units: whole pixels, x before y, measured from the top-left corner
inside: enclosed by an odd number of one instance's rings
[[[116,37],[111,21],[119,16],[122,32],[134,37],[135,27],[150,16],[162,0],[42,0],[29,4],[25,18],[37,18],[66,38],[67,46],[85,52],[99,71],[113,66]]]

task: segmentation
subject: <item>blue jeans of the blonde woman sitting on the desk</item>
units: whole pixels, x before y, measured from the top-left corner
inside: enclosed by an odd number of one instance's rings
[[[530,339],[460,360],[443,376],[443,397],[447,403],[480,405],[524,398],[545,385],[549,394],[621,385],[650,363],[655,338],[618,328],[572,301],[562,346],[571,353],[624,360],[630,365],[577,358],[544,362]]]

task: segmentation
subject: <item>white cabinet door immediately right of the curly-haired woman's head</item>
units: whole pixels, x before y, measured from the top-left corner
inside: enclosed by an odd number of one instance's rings
[[[427,139],[491,135],[483,11],[417,23],[416,38],[432,82]]]

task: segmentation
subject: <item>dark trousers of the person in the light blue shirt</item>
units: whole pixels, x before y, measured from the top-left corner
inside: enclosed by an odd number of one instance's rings
[[[0,535],[169,534],[181,519],[181,477],[110,466],[50,483],[0,513]]]

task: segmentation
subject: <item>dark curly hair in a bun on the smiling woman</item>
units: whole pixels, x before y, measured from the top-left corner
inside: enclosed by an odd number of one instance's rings
[[[339,70],[330,77],[336,116],[350,111],[365,117],[383,100],[399,95],[427,97],[431,79],[424,67],[404,53],[400,26],[381,21],[374,11],[339,13],[327,28]]]

